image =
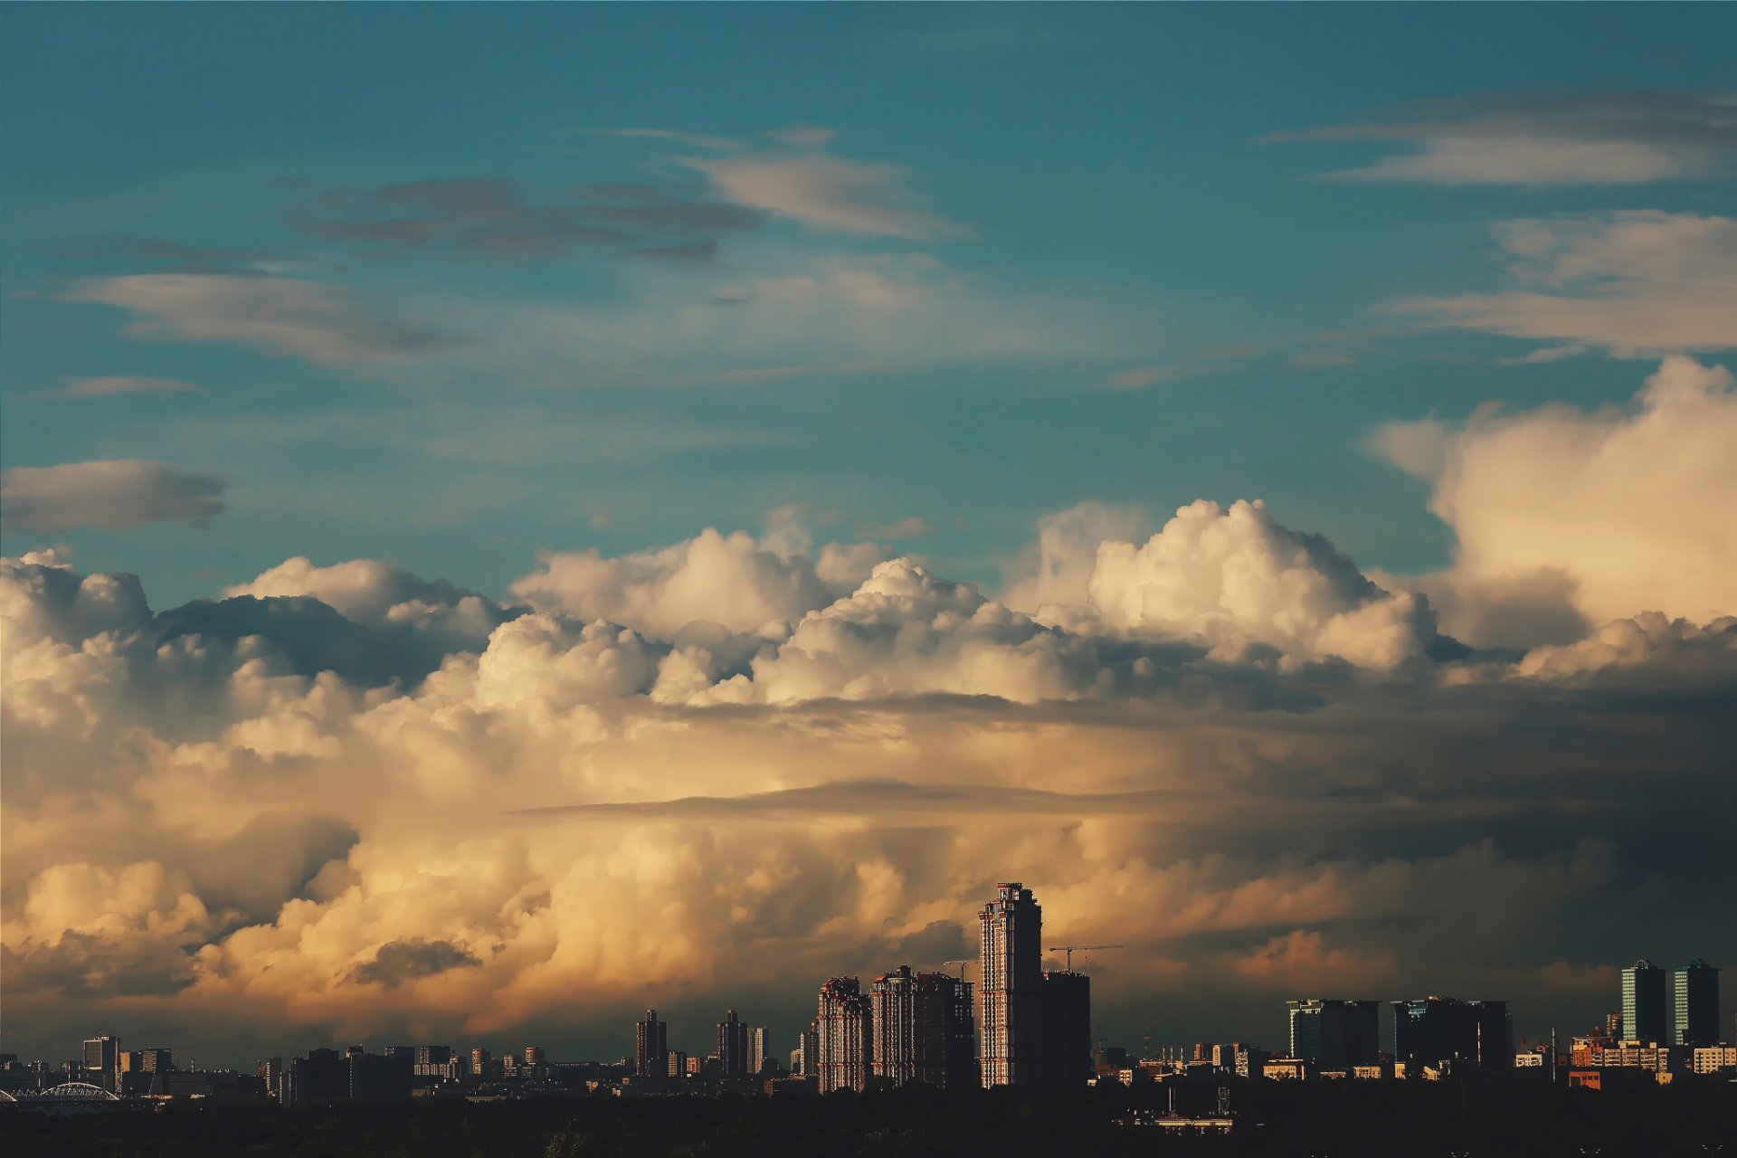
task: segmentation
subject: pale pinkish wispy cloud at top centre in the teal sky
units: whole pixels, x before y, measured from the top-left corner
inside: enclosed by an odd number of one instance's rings
[[[954,226],[915,208],[905,170],[822,153],[802,156],[690,158],[717,189],[754,208],[830,233],[933,238]]]

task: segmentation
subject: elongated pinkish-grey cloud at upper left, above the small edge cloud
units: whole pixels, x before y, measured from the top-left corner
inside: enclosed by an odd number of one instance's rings
[[[427,354],[459,344],[439,330],[372,313],[344,286],[294,278],[130,274],[80,281],[63,295],[132,311],[134,337],[241,342],[342,366]]]

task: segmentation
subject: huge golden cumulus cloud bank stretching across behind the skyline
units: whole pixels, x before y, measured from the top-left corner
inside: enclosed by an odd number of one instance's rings
[[[1390,668],[1428,653],[1423,604],[1325,540],[1252,503],[1139,523],[1049,523],[1039,585],[1084,602],[1047,622],[792,512],[549,556],[523,615],[306,559],[153,613],[132,576],[9,559],[9,1035],[603,1054],[657,993],[785,1035],[816,977],[955,957],[1007,875],[1056,943],[1131,946],[1093,962],[1106,1024],[1188,995],[1202,1038],[1271,1036],[1275,991],[1334,970],[1536,1031],[1602,1012],[1610,927],[1737,951],[1728,622]],[[377,681],[469,601],[497,622]]]

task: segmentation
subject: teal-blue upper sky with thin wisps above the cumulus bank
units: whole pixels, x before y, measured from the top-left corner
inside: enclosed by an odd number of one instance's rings
[[[790,502],[822,538],[917,516],[905,549],[990,585],[1086,498],[1261,497],[1364,566],[1438,568],[1452,533],[1370,431],[1621,403],[1650,349],[1393,306],[1513,286],[1504,220],[1730,205],[1728,139],[1589,175],[1324,177],[1433,137],[1318,132],[1518,118],[1522,148],[1621,151],[1636,104],[1737,90],[1723,5],[3,23],[0,455],[158,462],[224,507],[9,519],[5,549],[66,543],[155,602],[290,554],[502,592],[544,547],[756,530]],[[234,306],[238,278],[294,302]],[[314,313],[261,330],[283,309]],[[89,380],[132,389],[66,396]]]

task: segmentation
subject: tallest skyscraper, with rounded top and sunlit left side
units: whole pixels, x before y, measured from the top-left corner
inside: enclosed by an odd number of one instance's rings
[[[983,932],[981,995],[983,1085],[1037,1085],[1046,1080],[1042,1047],[1044,910],[1020,882],[995,885],[978,913]]]

